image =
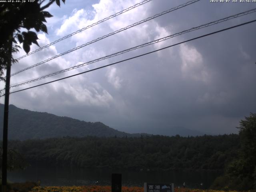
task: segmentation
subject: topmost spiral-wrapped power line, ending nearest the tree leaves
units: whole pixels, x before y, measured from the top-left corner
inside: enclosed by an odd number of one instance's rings
[[[23,56],[21,56],[20,58],[17,58],[16,60],[20,60],[20,59],[22,59],[22,58],[24,58],[24,57],[26,57],[26,56],[29,56],[29,55],[31,55],[31,54],[33,54],[33,53],[36,53],[36,52],[38,52],[38,51],[40,51],[40,50],[42,50],[42,49],[44,49],[44,48],[46,48],[46,47],[49,47],[49,46],[51,46],[51,45],[53,45],[53,44],[56,44],[56,43],[58,43],[58,42],[60,42],[60,41],[62,41],[62,40],[64,40],[64,39],[66,39],[66,38],[69,38],[69,37],[71,37],[71,36],[73,36],[73,35],[75,35],[75,34],[77,34],[77,33],[80,33],[80,32],[82,32],[82,31],[84,31],[84,30],[86,30],[86,29],[88,29],[88,28],[91,28],[91,27],[93,27],[93,26],[95,26],[95,25],[98,25],[98,24],[100,24],[100,23],[102,23],[102,22],[104,22],[104,21],[107,21],[107,20],[109,20],[109,19],[111,19],[111,18],[114,18],[114,17],[116,17],[116,16],[118,16],[118,15],[120,15],[120,14],[123,14],[123,13],[125,13],[125,12],[127,12],[127,11],[130,11],[130,10],[132,10],[132,9],[138,7],[138,6],[141,6],[141,5],[143,5],[143,4],[147,3],[147,2],[150,2],[150,1],[152,1],[152,0],[144,0],[144,1],[142,1],[142,2],[140,2],[140,3],[137,3],[137,4],[133,5],[133,6],[130,6],[129,8],[126,8],[126,9],[120,11],[120,12],[117,12],[117,13],[115,13],[115,14],[113,14],[113,15],[110,15],[110,16],[108,16],[108,17],[102,19],[102,20],[99,20],[99,21],[97,21],[97,22],[95,22],[95,23],[93,23],[93,24],[91,24],[91,25],[88,25],[88,26],[86,26],[86,27],[84,27],[84,28],[82,28],[82,29],[80,29],[80,30],[77,30],[76,32],[73,32],[73,33],[71,33],[71,34],[68,34],[67,36],[64,36],[64,37],[62,37],[62,38],[60,38],[60,39],[58,39],[58,40],[56,40],[56,41],[54,41],[54,42],[51,42],[50,44],[47,44],[47,45],[45,45],[45,46],[43,46],[43,47],[40,47],[40,48],[37,49],[37,50],[34,50],[34,51],[32,51],[32,52],[30,52],[30,53],[28,53],[28,54],[26,54],[26,55],[23,55]]]

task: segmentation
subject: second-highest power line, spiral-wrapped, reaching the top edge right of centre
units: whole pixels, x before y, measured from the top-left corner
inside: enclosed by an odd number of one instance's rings
[[[156,14],[156,15],[154,15],[154,16],[148,17],[148,18],[146,18],[146,19],[144,19],[144,20],[141,20],[141,21],[139,21],[139,22],[136,22],[136,23],[134,23],[134,24],[131,24],[131,25],[129,25],[129,26],[126,26],[126,27],[124,27],[124,28],[121,28],[121,29],[119,29],[119,30],[116,30],[116,31],[114,31],[114,32],[112,32],[112,33],[109,33],[109,34],[107,34],[107,35],[104,35],[104,36],[102,36],[102,37],[100,37],[100,38],[94,39],[94,40],[92,40],[92,41],[90,41],[90,42],[87,42],[87,43],[85,43],[85,44],[82,44],[82,45],[80,45],[80,46],[77,46],[76,48],[73,48],[73,49],[71,49],[71,50],[68,50],[68,51],[66,51],[66,52],[63,52],[63,53],[58,54],[58,55],[56,55],[56,56],[53,56],[52,58],[48,58],[48,59],[46,59],[46,60],[44,60],[44,61],[42,61],[42,62],[39,62],[39,63],[34,64],[34,65],[32,65],[32,66],[29,66],[29,67],[27,67],[27,68],[24,68],[24,69],[22,69],[22,70],[20,70],[20,71],[18,71],[18,72],[15,72],[15,73],[11,74],[11,76],[14,76],[14,75],[16,75],[16,74],[18,74],[18,73],[20,73],[20,72],[22,72],[22,71],[31,69],[31,68],[33,68],[33,67],[35,67],[35,66],[38,66],[38,65],[41,65],[41,64],[43,64],[43,63],[46,63],[46,62],[48,62],[48,61],[50,61],[50,60],[53,60],[53,59],[55,59],[55,58],[57,58],[57,57],[59,57],[59,56],[68,54],[68,53],[73,52],[73,51],[75,51],[75,50],[78,50],[78,49],[80,49],[80,48],[82,48],[82,47],[84,47],[84,46],[87,46],[87,45],[89,45],[89,44],[95,43],[95,42],[97,42],[97,41],[99,41],[99,40],[102,40],[102,39],[104,39],[104,38],[107,38],[107,37],[109,37],[109,36],[112,36],[112,35],[114,35],[114,34],[117,34],[117,33],[121,32],[121,31],[124,31],[124,30],[126,30],[126,29],[128,29],[128,28],[132,28],[132,27],[134,27],[134,26],[137,26],[137,25],[139,25],[139,24],[142,24],[142,23],[144,23],[144,22],[147,22],[147,21],[149,21],[149,20],[152,20],[152,19],[154,19],[154,18],[156,18],[156,17],[162,16],[162,15],[164,15],[164,14],[166,14],[166,13],[172,12],[172,11],[177,10],[177,9],[180,9],[180,8],[183,8],[183,7],[185,7],[185,6],[188,6],[188,5],[193,4],[193,3],[195,3],[195,2],[198,2],[198,1],[200,1],[200,0],[192,0],[192,1],[186,2],[186,3],[184,3],[184,4],[181,4],[181,5],[179,5],[179,6],[176,6],[176,7],[174,7],[174,8],[171,8],[171,9],[169,9],[169,10],[166,10],[166,11],[163,11],[163,12],[161,12],[161,13],[158,13],[158,14]]]

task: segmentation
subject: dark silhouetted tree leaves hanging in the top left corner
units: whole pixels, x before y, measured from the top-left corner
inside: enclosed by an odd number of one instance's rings
[[[62,0],[65,2],[65,0]],[[47,27],[44,24],[45,18],[52,15],[44,11],[51,4],[56,2],[60,6],[60,0],[35,0],[34,2],[8,2],[0,4],[0,78],[2,78],[3,70],[6,69],[10,60],[10,48],[12,53],[17,52],[20,46],[17,45],[16,39],[22,43],[22,47],[26,53],[30,52],[32,43],[38,45],[38,37],[32,29],[39,32],[47,33]],[[23,31],[22,31],[23,30]],[[27,31],[26,31],[27,30]],[[12,45],[12,42],[15,44]],[[38,45],[39,46],[39,45]],[[16,62],[11,56],[12,63]]]

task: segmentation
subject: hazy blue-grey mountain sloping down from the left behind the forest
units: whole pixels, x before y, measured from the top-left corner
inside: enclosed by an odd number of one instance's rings
[[[0,138],[2,138],[4,105],[0,104]],[[9,106],[8,138],[11,140],[44,139],[53,137],[138,137],[149,134],[120,132],[101,122],[85,122],[46,112],[34,112]]]

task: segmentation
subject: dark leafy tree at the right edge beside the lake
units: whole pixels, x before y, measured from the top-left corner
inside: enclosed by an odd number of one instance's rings
[[[241,143],[238,158],[228,165],[226,174],[217,178],[214,185],[223,188],[224,183],[228,189],[256,190],[256,114],[250,113],[238,128]]]

